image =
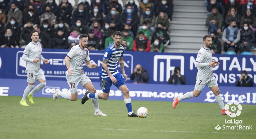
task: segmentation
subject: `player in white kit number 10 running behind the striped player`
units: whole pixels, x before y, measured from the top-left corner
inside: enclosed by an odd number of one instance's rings
[[[77,94],[77,85],[80,84],[82,87],[86,88],[91,93],[96,93],[96,89],[93,87],[91,80],[84,74],[83,63],[85,62],[86,66],[90,69],[97,67],[97,64],[90,63],[89,51],[86,48],[88,44],[88,35],[81,34],[79,37],[79,44],[73,46],[64,61],[67,67],[66,78],[67,83],[69,84],[70,93],[65,93],[59,89],[55,90],[55,94],[52,99],[55,101],[58,96],[62,96],[65,99],[76,101],[78,98]],[[98,116],[107,116],[102,113],[99,108],[98,99],[92,99],[95,113],[94,115]]]

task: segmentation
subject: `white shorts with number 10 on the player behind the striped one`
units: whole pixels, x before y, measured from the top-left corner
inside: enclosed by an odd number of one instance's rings
[[[86,83],[90,82],[91,80],[85,75],[69,75],[66,74],[67,83],[69,84],[69,89],[71,94],[77,93],[77,85],[84,86]]]

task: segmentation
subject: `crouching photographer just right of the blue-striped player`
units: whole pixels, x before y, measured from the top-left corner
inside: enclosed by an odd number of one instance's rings
[[[140,64],[135,66],[133,74],[131,74],[130,79],[133,83],[147,83],[149,80],[148,72],[146,69],[141,67]]]

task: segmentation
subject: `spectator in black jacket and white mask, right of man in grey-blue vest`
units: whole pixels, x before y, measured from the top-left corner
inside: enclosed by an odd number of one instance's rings
[[[251,47],[254,45],[255,35],[249,27],[249,23],[244,23],[241,30],[240,52],[251,52]]]

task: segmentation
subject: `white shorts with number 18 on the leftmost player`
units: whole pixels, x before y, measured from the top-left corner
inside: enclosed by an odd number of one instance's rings
[[[34,83],[38,79],[45,80],[43,70],[27,70],[27,82]]]

